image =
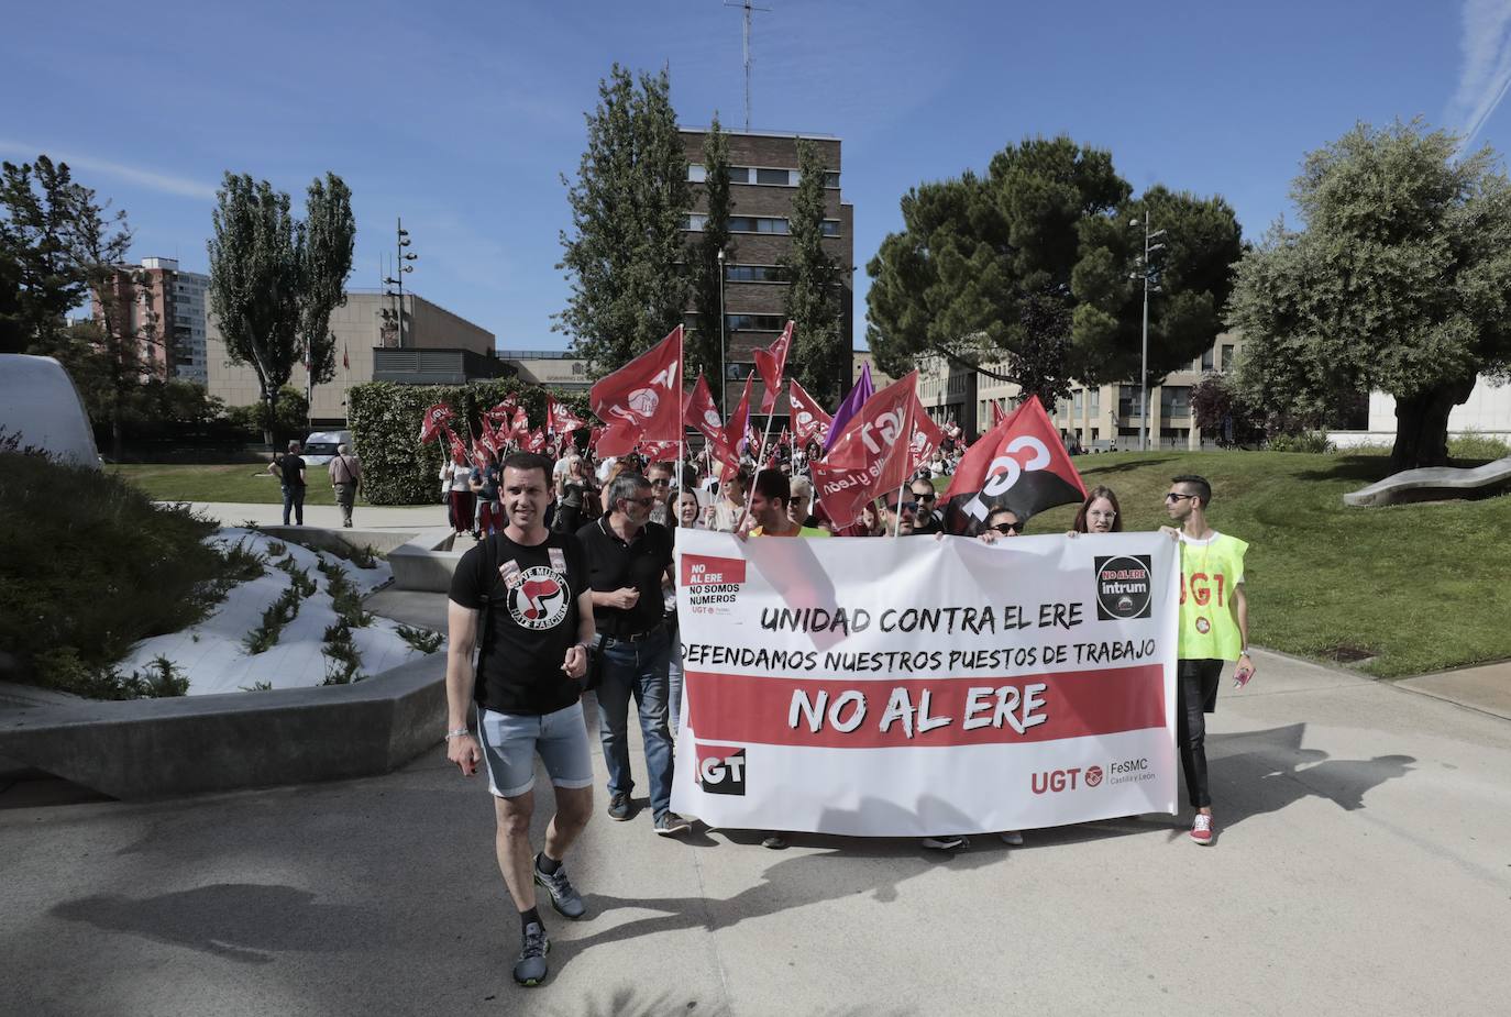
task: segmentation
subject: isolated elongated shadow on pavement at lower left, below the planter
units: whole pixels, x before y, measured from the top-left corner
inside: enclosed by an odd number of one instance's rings
[[[295,887],[218,883],[154,898],[119,893],[79,898],[56,905],[51,914],[243,964],[267,964],[290,951],[337,952],[382,944],[388,926],[363,908],[314,901],[314,893]]]

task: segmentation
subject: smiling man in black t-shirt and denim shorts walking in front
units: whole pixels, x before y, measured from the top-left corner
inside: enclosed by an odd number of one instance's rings
[[[592,598],[582,549],[545,529],[550,476],[552,464],[539,455],[518,452],[503,461],[508,526],[462,555],[447,604],[446,756],[468,777],[477,763],[488,768],[499,867],[524,938],[514,966],[521,985],[538,985],[547,973],[550,940],[535,886],[568,919],[586,910],[562,857],[592,815],[592,751],[579,701],[594,638]],[[482,650],[474,668],[476,644]],[[473,703],[476,740],[467,730]],[[532,861],[536,754],[556,786],[556,815]]]

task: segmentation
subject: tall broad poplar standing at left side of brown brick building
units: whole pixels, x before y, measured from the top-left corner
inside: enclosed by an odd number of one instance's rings
[[[556,331],[573,337],[592,376],[645,352],[677,326],[692,296],[683,219],[688,159],[671,107],[671,77],[613,65],[588,115],[577,183],[567,184],[573,233],[561,234],[571,284]]]

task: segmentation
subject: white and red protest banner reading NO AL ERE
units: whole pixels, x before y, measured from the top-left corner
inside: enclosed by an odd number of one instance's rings
[[[895,837],[1176,811],[1163,535],[678,530],[675,567],[677,811]]]

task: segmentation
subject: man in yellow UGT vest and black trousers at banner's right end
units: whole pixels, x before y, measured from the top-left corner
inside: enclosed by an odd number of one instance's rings
[[[1165,493],[1165,512],[1180,530],[1180,636],[1176,671],[1176,733],[1186,793],[1197,810],[1191,839],[1212,843],[1212,795],[1207,792],[1206,715],[1216,710],[1218,683],[1236,660],[1233,683],[1254,675],[1248,659],[1248,595],[1244,552],[1248,544],[1207,526],[1212,485],[1200,476],[1177,476]]]

